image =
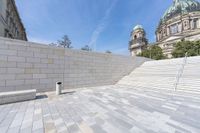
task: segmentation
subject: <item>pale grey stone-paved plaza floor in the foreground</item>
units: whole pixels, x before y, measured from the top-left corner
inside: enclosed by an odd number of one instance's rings
[[[199,120],[198,95],[120,85],[0,106],[1,133],[199,133]]]

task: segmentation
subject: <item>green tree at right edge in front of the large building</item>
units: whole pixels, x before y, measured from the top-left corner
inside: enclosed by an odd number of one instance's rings
[[[180,41],[176,43],[175,49],[172,52],[173,57],[184,57],[185,53],[187,53],[188,56],[200,55],[200,41]]]

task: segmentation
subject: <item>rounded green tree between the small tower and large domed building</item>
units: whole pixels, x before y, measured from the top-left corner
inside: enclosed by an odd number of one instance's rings
[[[154,60],[166,59],[162,49],[157,45],[149,46],[147,49],[143,50],[138,56],[151,58]]]

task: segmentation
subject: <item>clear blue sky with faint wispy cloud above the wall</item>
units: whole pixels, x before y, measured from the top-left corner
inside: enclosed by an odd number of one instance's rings
[[[75,49],[129,55],[130,32],[143,25],[150,42],[173,0],[16,0],[29,41],[57,42],[67,34]]]

